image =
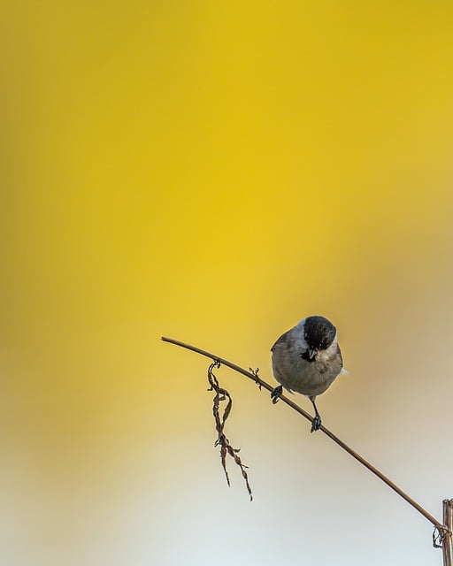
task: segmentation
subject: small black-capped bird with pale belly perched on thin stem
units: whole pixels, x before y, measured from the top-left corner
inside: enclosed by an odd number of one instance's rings
[[[318,431],[321,417],[316,408],[316,397],[323,394],[342,371],[346,373],[342,369],[336,328],[325,317],[303,318],[280,336],[271,351],[273,375],[281,384],[273,389],[273,402],[278,401],[282,387],[290,393],[296,391],[306,395],[315,409],[311,432]]]

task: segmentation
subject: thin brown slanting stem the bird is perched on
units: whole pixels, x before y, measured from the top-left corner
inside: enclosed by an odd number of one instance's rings
[[[235,363],[228,362],[227,360],[225,360],[225,359],[223,359],[219,356],[214,356],[210,352],[206,352],[205,350],[202,350],[200,348],[196,348],[195,346],[191,346],[190,344],[186,344],[185,342],[180,342],[180,340],[173,340],[173,338],[165,338],[164,336],[162,336],[162,340],[164,340],[165,342],[169,342],[170,344],[174,344],[175,346],[180,346],[180,348],[186,348],[188,350],[191,350],[192,352],[196,352],[196,354],[200,354],[201,356],[209,357],[209,358],[211,358],[211,360],[213,362],[217,362],[217,363],[221,363],[222,365],[226,365],[226,367],[228,367],[228,368],[230,368],[234,371],[237,371],[238,373],[242,373],[242,375],[244,375],[246,378],[252,379],[253,381],[255,381],[255,383],[257,383],[257,385],[260,388],[265,387],[265,389],[267,389],[267,391],[270,391],[270,392],[273,391],[273,386],[269,385],[263,379],[259,378],[257,376],[257,371],[244,370],[242,367],[240,367],[239,365],[236,365]],[[296,405],[295,402],[291,401],[291,399],[289,399],[285,395],[280,395],[279,399],[282,402],[286,403],[289,407],[291,407],[291,409],[294,409],[297,413],[299,413],[299,415],[302,415],[304,418],[306,418],[310,422],[313,421],[313,417],[311,417],[311,415],[309,413],[307,413],[305,410],[303,410],[301,407],[299,407],[299,405]],[[400,497],[402,497],[403,500],[407,501],[414,509],[417,509],[418,513],[423,515],[431,524],[434,525],[434,529],[437,529],[437,531],[440,534],[441,539],[443,539],[446,534],[450,533],[449,529],[445,525],[441,524],[436,518],[434,518],[434,516],[430,515],[426,511],[426,509],[423,509],[423,507],[421,507],[421,505],[419,505],[417,503],[417,501],[414,501],[407,493],[404,493],[403,490],[400,487],[396,486],[394,484],[394,482],[391,481],[387,476],[385,476],[380,470],[375,468],[371,463],[367,462],[363,456],[357,454],[357,452],[355,450],[350,448],[345,442],[343,442],[337,436],[335,436],[333,432],[330,432],[322,424],[321,424],[321,427],[319,428],[319,430],[321,432],[324,432],[324,434],[326,434],[326,436],[328,436],[329,439],[334,440],[335,444],[338,444],[339,447],[342,447],[342,449],[345,450],[353,458],[355,458],[357,460],[357,462],[364,465],[365,468],[368,468],[368,470],[370,470],[375,476],[380,478],[385,484],[388,485],[388,487],[390,487],[396,493],[398,493],[398,495],[400,495]]]

